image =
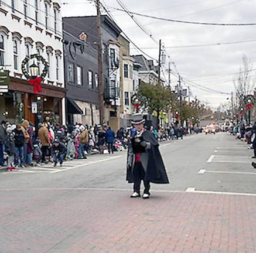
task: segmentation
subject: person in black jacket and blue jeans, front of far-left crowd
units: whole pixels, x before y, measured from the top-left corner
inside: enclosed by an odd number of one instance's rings
[[[15,145],[15,167],[18,169],[19,165],[21,168],[24,167],[24,143],[25,136],[23,134],[23,129],[20,124],[16,124],[16,129],[14,131],[14,145]]]

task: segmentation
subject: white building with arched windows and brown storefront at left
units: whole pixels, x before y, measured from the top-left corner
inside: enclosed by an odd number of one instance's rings
[[[0,94],[0,119],[66,123],[60,9],[60,0],[0,0],[0,67],[11,76],[9,92]],[[22,60],[35,53],[49,62],[39,94],[33,93],[21,69]],[[32,63],[30,60],[28,66]],[[38,64],[42,73],[44,66]],[[32,102],[37,103],[34,114]]]

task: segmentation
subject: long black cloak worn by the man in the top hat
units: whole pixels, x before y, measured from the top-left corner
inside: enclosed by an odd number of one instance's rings
[[[132,134],[131,138],[134,138],[135,134]],[[144,180],[149,181],[151,183],[157,184],[168,184],[168,176],[166,174],[165,165],[163,164],[162,156],[159,151],[159,144],[156,140],[155,136],[151,131],[145,131],[142,134],[142,139],[146,142],[151,143],[151,149],[146,151],[146,159],[148,159],[148,166],[145,169],[145,178]],[[128,150],[128,158],[129,151],[131,152],[132,145],[130,143]],[[132,166],[127,165],[127,181],[128,183],[134,183],[134,163],[135,163],[135,155],[132,157]]]

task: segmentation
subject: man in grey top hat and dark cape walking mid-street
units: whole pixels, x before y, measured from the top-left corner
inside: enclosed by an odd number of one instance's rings
[[[168,184],[168,176],[159,144],[151,131],[144,128],[145,119],[142,114],[132,116],[135,132],[131,135],[127,157],[127,181],[134,183],[131,197],[140,197],[141,180],[144,182],[143,199],[149,199],[150,183]]]

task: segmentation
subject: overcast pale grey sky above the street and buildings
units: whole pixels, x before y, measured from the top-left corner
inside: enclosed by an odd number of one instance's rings
[[[215,23],[256,23],[256,0],[121,0],[129,11],[168,19]],[[95,6],[87,0],[62,0],[63,16],[95,15]],[[104,0],[114,16],[117,25],[142,50],[158,58],[158,45],[147,36],[127,15],[114,8],[121,8],[116,0]],[[256,60],[256,26],[203,26],[172,23],[135,16],[165,47],[192,46],[209,43],[255,42],[231,45],[180,47],[166,49],[170,61],[174,61],[180,75],[200,86],[231,93],[234,91],[233,78],[242,63],[243,54],[254,63]],[[90,35],[88,35],[90,36]],[[141,54],[131,45],[131,54]],[[166,59],[168,68],[168,57]],[[175,71],[173,65],[171,69]],[[252,71],[252,75],[255,75]],[[165,72],[168,78],[167,71]],[[177,84],[172,78],[172,86]],[[184,85],[184,88],[186,86]],[[191,87],[192,95],[218,107],[227,101],[228,95],[209,93]]]

